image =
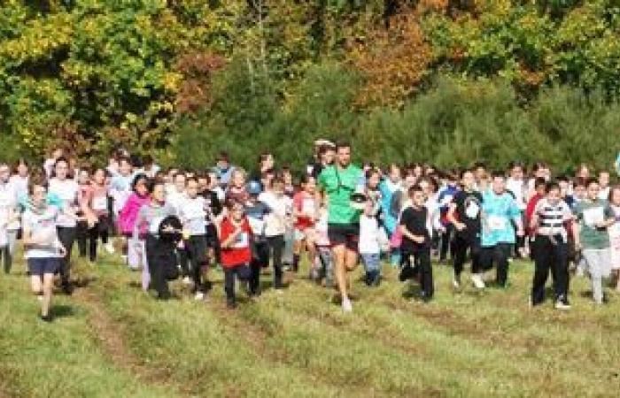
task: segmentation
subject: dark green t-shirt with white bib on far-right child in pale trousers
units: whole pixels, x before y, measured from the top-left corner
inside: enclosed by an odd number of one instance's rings
[[[597,228],[596,222],[614,218],[613,210],[607,201],[582,201],[573,209],[580,226],[579,238],[584,249],[607,249],[609,233],[607,228]]]

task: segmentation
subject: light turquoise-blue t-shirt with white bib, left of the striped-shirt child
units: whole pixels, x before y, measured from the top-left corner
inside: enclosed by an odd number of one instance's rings
[[[515,243],[515,227],[511,221],[521,218],[515,198],[508,192],[497,195],[492,190],[484,192],[482,197],[482,246]]]

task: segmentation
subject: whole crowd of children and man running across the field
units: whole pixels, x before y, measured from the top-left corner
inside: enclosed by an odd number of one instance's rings
[[[349,273],[359,263],[369,288],[380,285],[383,263],[399,267],[401,281],[419,283],[423,302],[435,290],[433,258],[453,265],[455,290],[468,262],[473,287],[506,288],[511,260],[531,258],[532,306],[545,302],[549,273],[559,310],[570,309],[573,270],[591,279],[595,303],[605,302],[608,282],[620,290],[620,186],[610,185],[608,171],[579,165],[575,175],[554,175],[545,163],[519,162],[492,172],[484,164],[358,167],[351,150],[319,140],[302,171],[267,152],[252,172],[224,152],[201,171],[160,170],[125,150],[92,169],[62,149],[42,167],[0,162],[4,272],[20,240],[45,321],[56,275],[72,293],[74,245],[91,262],[98,249],[118,252],[140,272],[143,289],[164,300],[172,279],[205,300],[209,269],[221,267],[230,308],[237,281],[259,296],[262,271],[272,267],[270,288],[280,292],[284,272],[299,272],[300,264],[309,279],[337,290],[345,312],[353,310]]]

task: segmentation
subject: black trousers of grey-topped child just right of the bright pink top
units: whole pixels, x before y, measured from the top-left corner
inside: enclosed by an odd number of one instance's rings
[[[174,263],[174,243],[162,241],[153,235],[147,235],[145,241],[146,262],[151,274],[151,288],[157,291],[160,299],[170,298],[166,269]],[[173,264],[174,266],[174,264]]]

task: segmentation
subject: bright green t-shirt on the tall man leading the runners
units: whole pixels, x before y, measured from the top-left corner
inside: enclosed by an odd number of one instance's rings
[[[317,181],[328,197],[328,223],[353,224],[360,222],[360,211],[351,207],[351,194],[364,183],[361,169],[348,165],[337,170],[335,165],[323,169]]]

